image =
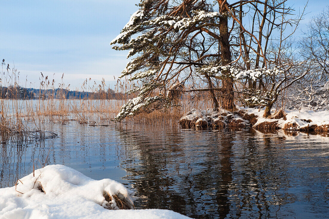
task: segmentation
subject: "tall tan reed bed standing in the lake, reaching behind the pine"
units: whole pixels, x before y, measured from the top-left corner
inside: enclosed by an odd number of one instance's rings
[[[25,84],[24,84],[25,83]],[[105,84],[86,79],[80,88],[70,89],[65,85],[64,75],[61,82],[50,80],[41,73],[38,89],[26,88],[27,82],[21,83],[19,72],[2,62],[0,81],[0,128],[1,142],[11,136],[31,138],[33,133],[42,138],[45,133],[41,124],[52,122],[67,124],[78,122],[92,126],[109,125],[120,108],[137,96],[127,94],[133,83],[127,78],[118,80],[114,89]],[[138,83],[138,82],[137,82]],[[156,90],[155,92],[164,92]],[[75,95],[72,95],[75,94]],[[212,108],[211,98],[205,92],[183,93],[176,100],[175,107],[156,109],[126,118],[123,123],[131,124],[178,124],[179,118],[193,108]],[[50,131],[49,131],[50,132]],[[25,136],[25,137],[24,137]],[[41,136],[41,137],[40,137]]]

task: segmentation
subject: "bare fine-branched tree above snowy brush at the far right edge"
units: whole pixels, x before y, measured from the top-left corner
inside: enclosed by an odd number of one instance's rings
[[[329,7],[311,18],[299,43],[300,55],[312,69],[290,91],[292,108],[329,108]]]

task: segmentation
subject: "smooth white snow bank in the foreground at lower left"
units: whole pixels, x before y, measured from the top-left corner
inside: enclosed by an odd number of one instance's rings
[[[69,167],[49,165],[20,179],[16,188],[0,189],[0,218],[188,218],[170,210],[109,210],[121,208],[114,197],[128,208],[136,200],[119,182],[92,180]]]

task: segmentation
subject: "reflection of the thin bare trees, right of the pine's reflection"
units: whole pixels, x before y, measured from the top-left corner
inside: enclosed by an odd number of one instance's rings
[[[235,158],[228,196],[234,207],[228,217],[276,217],[281,205],[293,200],[284,191],[290,187],[289,161],[284,152],[278,152],[285,137],[250,130],[233,138]]]

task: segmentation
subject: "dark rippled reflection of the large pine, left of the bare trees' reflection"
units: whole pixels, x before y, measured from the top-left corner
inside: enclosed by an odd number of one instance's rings
[[[134,182],[133,187],[142,198],[136,207],[171,209],[191,217],[224,218],[230,210],[230,137],[193,131],[154,134],[121,130],[121,142],[130,142],[127,150],[138,152],[134,165],[123,161],[129,173],[125,179]],[[159,139],[159,135],[163,137]]]

